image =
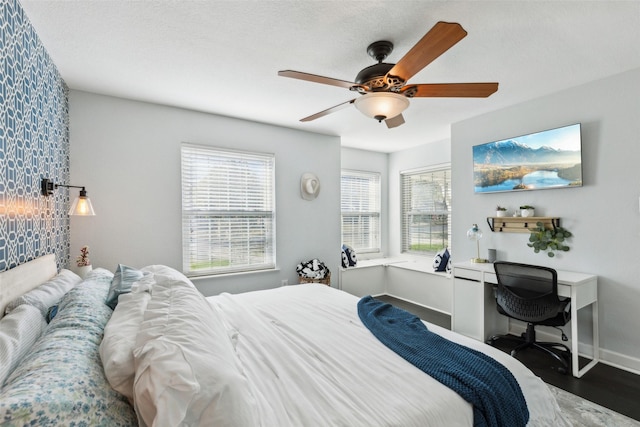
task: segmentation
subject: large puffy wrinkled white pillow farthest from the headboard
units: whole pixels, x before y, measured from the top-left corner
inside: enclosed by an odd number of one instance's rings
[[[141,426],[255,426],[255,401],[218,313],[195,287],[158,281],[133,355]]]

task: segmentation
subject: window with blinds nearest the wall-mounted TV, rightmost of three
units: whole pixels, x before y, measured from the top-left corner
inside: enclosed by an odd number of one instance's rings
[[[402,252],[434,254],[449,247],[451,167],[403,172]]]

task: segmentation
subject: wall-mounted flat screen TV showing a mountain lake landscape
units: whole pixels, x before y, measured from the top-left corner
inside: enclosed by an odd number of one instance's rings
[[[582,186],[580,123],[473,147],[476,193]]]

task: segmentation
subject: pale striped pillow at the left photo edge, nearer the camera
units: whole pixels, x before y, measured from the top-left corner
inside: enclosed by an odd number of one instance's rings
[[[0,319],[0,388],[46,325],[40,310],[27,304],[16,307]]]

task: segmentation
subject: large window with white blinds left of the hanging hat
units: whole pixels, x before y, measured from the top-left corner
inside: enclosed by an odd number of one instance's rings
[[[274,156],[182,145],[185,274],[275,268]]]

